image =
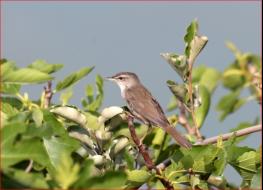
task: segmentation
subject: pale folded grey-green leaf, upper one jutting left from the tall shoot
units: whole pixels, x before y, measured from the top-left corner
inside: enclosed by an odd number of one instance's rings
[[[177,74],[179,74],[183,81],[188,80],[189,65],[185,55],[161,53],[161,56],[169,63],[169,65],[177,72]]]

